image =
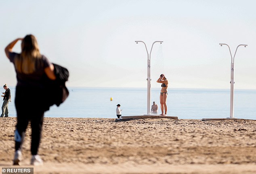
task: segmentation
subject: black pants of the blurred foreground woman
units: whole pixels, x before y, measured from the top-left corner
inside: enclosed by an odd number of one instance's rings
[[[28,95],[31,94],[31,95]],[[40,145],[44,110],[40,90],[16,88],[15,107],[17,110],[17,125],[15,131],[15,150],[21,150],[25,131],[31,123],[31,154],[36,155]],[[28,96],[31,98],[28,100]]]

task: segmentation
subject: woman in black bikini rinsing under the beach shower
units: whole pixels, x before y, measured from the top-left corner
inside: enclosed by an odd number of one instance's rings
[[[162,116],[167,115],[167,105],[166,105],[166,100],[168,96],[168,80],[164,76],[164,74],[161,74],[160,77],[156,81],[157,83],[162,83],[162,89],[160,92],[160,106],[161,106],[161,111],[162,111]]]

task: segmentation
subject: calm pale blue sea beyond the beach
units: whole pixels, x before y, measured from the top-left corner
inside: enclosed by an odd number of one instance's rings
[[[9,102],[9,116],[16,117],[15,87],[10,90],[13,102]],[[52,106],[45,117],[116,118],[117,104],[121,104],[123,116],[147,114],[147,88],[69,88],[69,92],[67,100],[59,107]],[[151,104],[155,101],[159,105],[159,92],[160,88],[151,89]],[[170,116],[179,119],[229,117],[229,90],[169,88],[168,94]],[[235,90],[234,107],[234,117],[256,119],[256,90]]]

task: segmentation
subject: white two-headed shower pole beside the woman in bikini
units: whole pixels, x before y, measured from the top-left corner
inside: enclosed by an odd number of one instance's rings
[[[145,47],[146,47],[146,51],[147,51],[147,45],[145,44],[145,42],[143,41],[135,41],[136,43],[138,42],[142,42],[144,43]],[[147,51],[147,115],[150,115],[150,102],[151,102],[151,51],[152,51],[152,48],[153,48],[153,45],[156,43],[156,42],[159,42],[159,43],[163,43],[164,41],[155,41],[153,42],[152,46],[151,46],[151,50],[150,50],[150,53]]]

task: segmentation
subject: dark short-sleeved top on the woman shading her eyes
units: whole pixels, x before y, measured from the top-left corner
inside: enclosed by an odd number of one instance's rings
[[[11,52],[9,54],[10,61],[15,64],[15,59],[21,59],[21,56],[19,53]],[[22,87],[43,87],[44,82],[44,69],[50,66],[49,60],[42,55],[41,59],[37,59],[35,63],[36,71],[32,74],[24,74],[20,73],[16,70],[17,74],[17,86]]]

